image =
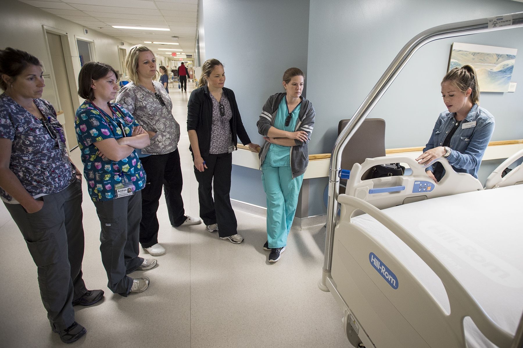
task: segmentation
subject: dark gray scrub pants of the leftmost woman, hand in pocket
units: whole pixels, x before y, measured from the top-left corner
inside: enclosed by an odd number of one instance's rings
[[[37,266],[51,328],[60,331],[74,322],[73,300],[87,292],[82,279],[82,182],[75,179],[59,193],[37,199],[43,200],[43,208],[36,213],[27,213],[19,204],[5,206]]]

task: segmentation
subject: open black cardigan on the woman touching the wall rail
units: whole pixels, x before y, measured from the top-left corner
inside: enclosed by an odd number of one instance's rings
[[[247,131],[242,123],[240,111],[238,111],[238,104],[234,92],[229,88],[223,88],[225,97],[229,99],[231,105],[232,117],[229,122],[231,125],[232,141],[234,147],[238,145],[238,139],[242,141],[243,145],[251,143],[251,139],[247,135]],[[196,130],[198,135],[198,145],[200,147],[200,154],[202,156],[209,155],[209,148],[211,146],[211,125],[212,125],[212,100],[209,95],[209,88],[206,86],[195,89],[191,92],[189,103],[187,104],[187,130]],[[192,152],[192,148],[189,146]]]

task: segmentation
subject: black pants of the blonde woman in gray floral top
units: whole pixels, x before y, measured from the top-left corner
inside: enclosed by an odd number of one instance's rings
[[[140,158],[147,174],[147,182],[142,190],[142,221],[140,222],[140,244],[144,248],[158,243],[158,218],[156,211],[160,205],[162,187],[170,224],[178,227],[185,216],[184,200],[181,198],[183,178],[181,177],[180,153],[178,149],[165,154],[152,154]]]

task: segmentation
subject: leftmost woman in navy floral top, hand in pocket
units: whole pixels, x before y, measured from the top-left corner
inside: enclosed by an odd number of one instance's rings
[[[0,197],[27,243],[51,329],[65,343],[87,330],[74,305],[104,296],[82,279],[82,174],[71,162],[54,107],[41,99],[42,63],[27,52],[0,51]]]

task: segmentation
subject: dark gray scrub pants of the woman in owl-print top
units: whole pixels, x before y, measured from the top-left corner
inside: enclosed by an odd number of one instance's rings
[[[127,274],[143,263],[143,258],[138,257],[142,193],[94,203],[101,225],[100,252],[107,287],[115,294],[127,296],[133,281]]]

